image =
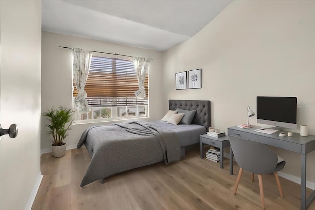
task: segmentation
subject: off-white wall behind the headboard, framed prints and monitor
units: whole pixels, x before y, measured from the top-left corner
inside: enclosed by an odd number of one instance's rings
[[[246,108],[256,111],[256,96],[296,96],[298,124],[314,135],[314,9],[315,1],[232,2],[197,35],[163,53],[164,101],[210,100],[212,126],[227,132],[247,123]],[[176,72],[199,68],[202,89],[175,90]],[[287,160],[283,172],[300,177],[300,155],[273,149]],[[314,152],[307,158],[307,180],[314,182]]]

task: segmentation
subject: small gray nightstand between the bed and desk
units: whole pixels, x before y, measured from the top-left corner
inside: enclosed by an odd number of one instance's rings
[[[207,134],[200,135],[200,158],[204,158],[205,144],[220,148],[220,167],[223,168],[224,147],[230,146],[228,136],[216,138]]]

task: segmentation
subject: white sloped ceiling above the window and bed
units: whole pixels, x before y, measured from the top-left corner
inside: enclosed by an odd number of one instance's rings
[[[42,30],[165,51],[200,31],[229,0],[44,0]]]

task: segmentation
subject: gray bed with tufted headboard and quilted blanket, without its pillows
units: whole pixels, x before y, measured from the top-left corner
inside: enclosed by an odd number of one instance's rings
[[[133,121],[86,129],[77,148],[85,145],[91,162],[80,186],[161,161],[179,161],[210,127],[210,101],[169,100],[169,110],[177,109],[195,110],[191,124]]]

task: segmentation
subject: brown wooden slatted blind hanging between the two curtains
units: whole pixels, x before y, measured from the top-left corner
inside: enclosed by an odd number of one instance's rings
[[[132,61],[92,56],[89,75],[85,85],[87,100],[91,107],[148,105],[148,73],[144,87],[147,97],[139,99],[138,79]],[[73,81],[73,96],[78,90]]]

